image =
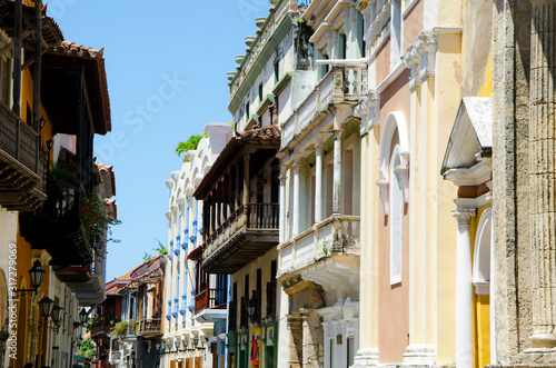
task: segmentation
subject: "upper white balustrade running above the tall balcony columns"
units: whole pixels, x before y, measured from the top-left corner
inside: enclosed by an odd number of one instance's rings
[[[281,147],[302,132],[329,105],[356,103],[367,93],[365,66],[332,67],[281,126]]]

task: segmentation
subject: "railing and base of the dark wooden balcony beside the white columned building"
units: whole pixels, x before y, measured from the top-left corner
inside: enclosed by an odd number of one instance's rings
[[[202,268],[234,273],[278,246],[278,203],[248,203],[205,239]]]

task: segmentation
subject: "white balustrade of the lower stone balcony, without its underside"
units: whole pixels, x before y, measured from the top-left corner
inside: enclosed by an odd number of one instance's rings
[[[337,255],[359,256],[359,217],[332,215],[279,246],[279,275],[299,271]]]

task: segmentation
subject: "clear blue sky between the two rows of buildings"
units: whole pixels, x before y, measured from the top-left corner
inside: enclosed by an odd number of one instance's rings
[[[268,0],[52,0],[66,40],[105,48],[112,132],[95,140],[98,161],[113,165],[118,218],[107,280],[155,253],[168,238],[166,179],[179,170],[173,150],[207,122],[231,121],[226,72]]]

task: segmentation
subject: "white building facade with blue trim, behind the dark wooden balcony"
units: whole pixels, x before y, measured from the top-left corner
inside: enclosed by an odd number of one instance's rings
[[[232,136],[228,123],[208,123],[197,149],[186,153],[170,189],[168,262],[165,294],[166,355],[172,367],[224,367],[228,276],[201,268],[203,202],[192,197],[203,176]]]

